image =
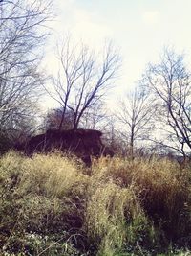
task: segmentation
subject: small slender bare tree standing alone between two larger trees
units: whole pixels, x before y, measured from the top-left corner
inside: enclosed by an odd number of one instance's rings
[[[155,109],[150,94],[143,87],[137,86],[126,97],[119,101],[117,120],[122,138],[127,142],[129,153],[134,157],[135,146],[138,140],[148,139]],[[122,125],[122,126],[121,126]]]

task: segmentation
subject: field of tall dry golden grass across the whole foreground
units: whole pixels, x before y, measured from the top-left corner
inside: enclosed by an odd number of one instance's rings
[[[0,255],[191,255],[189,165],[10,152],[0,195]]]

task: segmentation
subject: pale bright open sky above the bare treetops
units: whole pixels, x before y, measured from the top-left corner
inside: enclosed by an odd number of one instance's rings
[[[56,17],[46,63],[56,70],[55,41],[70,33],[98,49],[112,40],[122,58],[114,89],[124,95],[141,78],[148,62],[165,46],[185,53],[191,64],[191,0],[54,0]]]

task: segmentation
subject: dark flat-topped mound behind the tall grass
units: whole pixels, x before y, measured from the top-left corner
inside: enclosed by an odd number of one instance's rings
[[[59,150],[74,153],[87,165],[91,165],[91,156],[113,156],[113,151],[101,141],[102,132],[94,129],[47,130],[46,133],[33,136],[25,146],[15,147],[27,155],[35,152]]]

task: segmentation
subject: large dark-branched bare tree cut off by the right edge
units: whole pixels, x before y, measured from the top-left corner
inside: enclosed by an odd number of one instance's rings
[[[159,144],[184,156],[191,149],[191,75],[182,55],[165,49],[159,64],[150,64],[147,86],[153,91],[158,107],[160,133],[166,139]]]

